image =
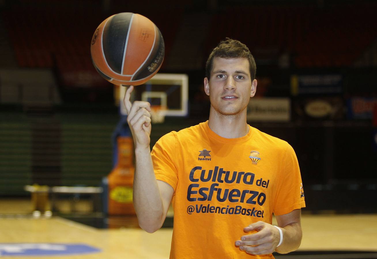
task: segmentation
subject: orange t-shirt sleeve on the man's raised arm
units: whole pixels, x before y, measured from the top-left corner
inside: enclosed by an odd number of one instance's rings
[[[178,184],[178,170],[175,166],[176,139],[174,132],[162,136],[153,147],[151,155],[156,179],[168,183],[175,192]]]

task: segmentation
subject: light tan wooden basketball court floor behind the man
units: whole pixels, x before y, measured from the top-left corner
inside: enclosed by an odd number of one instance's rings
[[[377,252],[375,214],[303,214],[302,228],[303,239],[299,250]],[[171,238],[172,229],[160,229],[149,234],[138,228],[96,229],[57,216],[32,218],[25,214],[0,215],[0,243],[80,243],[101,250],[100,253],[54,256],[56,259],[169,258]]]

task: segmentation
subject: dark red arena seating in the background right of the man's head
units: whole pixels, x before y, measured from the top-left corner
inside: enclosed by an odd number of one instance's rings
[[[252,52],[288,52],[297,67],[351,66],[377,37],[373,24],[373,10],[363,5],[237,7],[213,16],[206,52],[229,35]]]

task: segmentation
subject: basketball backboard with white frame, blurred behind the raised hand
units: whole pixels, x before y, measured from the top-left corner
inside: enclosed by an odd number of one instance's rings
[[[120,87],[120,112],[127,115],[123,98],[126,87]],[[189,76],[186,74],[157,73],[145,84],[136,85],[131,101],[146,101],[166,107],[165,116],[184,117],[188,114]]]

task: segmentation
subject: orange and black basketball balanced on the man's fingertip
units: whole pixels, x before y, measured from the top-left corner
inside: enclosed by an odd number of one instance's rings
[[[157,26],[140,14],[123,12],[95,30],[90,53],[98,73],[116,85],[141,85],[160,69],[165,44]]]

